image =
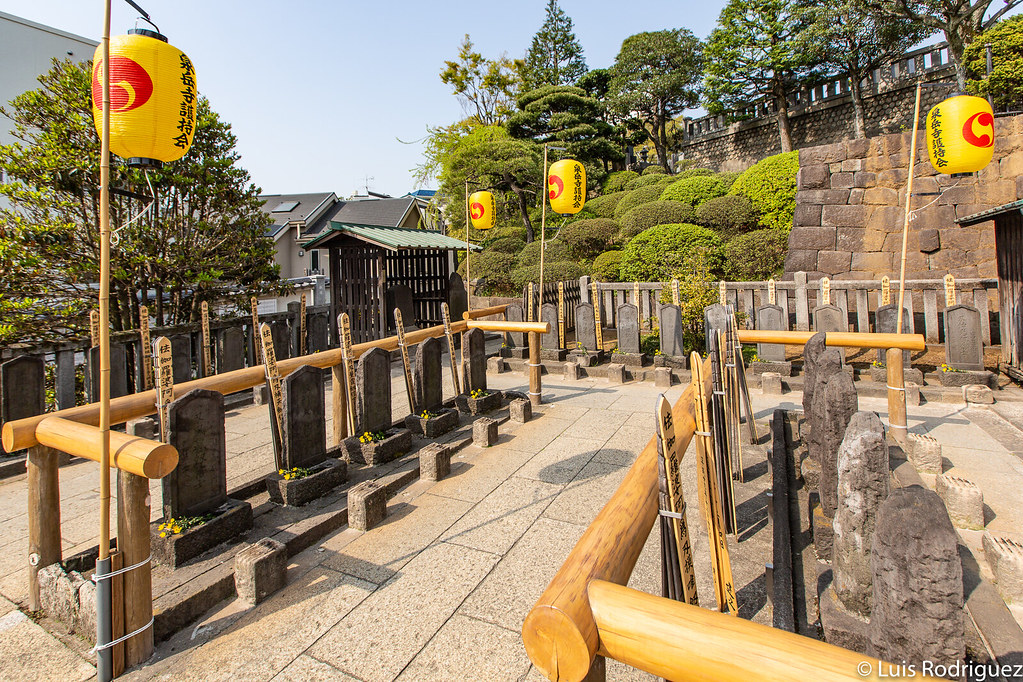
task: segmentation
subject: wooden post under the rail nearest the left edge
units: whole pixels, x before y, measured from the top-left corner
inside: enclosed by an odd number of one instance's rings
[[[39,570],[60,560],[60,453],[45,445],[29,449],[29,610],[37,611]]]

